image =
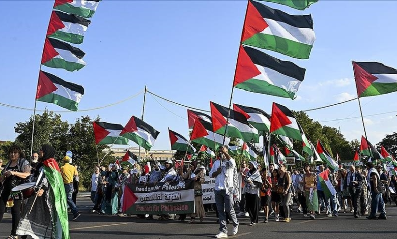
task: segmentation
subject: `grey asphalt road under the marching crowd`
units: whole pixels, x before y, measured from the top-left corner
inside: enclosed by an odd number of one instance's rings
[[[92,203],[88,197],[78,197],[77,207],[81,217],[70,222],[71,238],[213,238],[219,230],[215,213],[210,212],[202,223],[189,224],[179,221],[145,220],[133,217],[103,216],[91,213]],[[260,223],[249,226],[249,218],[239,218],[239,233],[228,238],[397,238],[397,207],[388,205],[388,220],[354,219],[353,215],[339,214],[339,217],[316,216],[316,220],[303,218],[302,214],[292,213],[291,222]],[[71,218],[72,215],[69,214]],[[188,218],[187,218],[188,219]],[[187,220],[188,221],[188,220]],[[232,225],[228,226],[230,231]],[[6,213],[0,224],[0,238],[6,238],[11,231],[11,215]]]

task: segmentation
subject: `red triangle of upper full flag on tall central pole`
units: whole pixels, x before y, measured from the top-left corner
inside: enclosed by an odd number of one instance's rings
[[[245,15],[243,35],[241,42],[251,38],[253,35],[262,32],[269,27],[265,19],[258,12],[257,8],[253,6],[251,1],[248,1],[247,14]]]

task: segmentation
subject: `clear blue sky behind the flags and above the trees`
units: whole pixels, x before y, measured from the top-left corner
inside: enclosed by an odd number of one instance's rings
[[[233,102],[271,113],[272,102],[305,110],[356,97],[351,61],[378,61],[397,68],[395,1],[319,1],[305,11],[265,3],[289,14],[311,13],[316,41],[310,59],[292,59],[306,68],[294,101],[235,89]],[[44,37],[53,1],[1,1],[2,89],[0,103],[33,108]],[[246,1],[102,1],[78,47],[87,66],[78,72],[42,69],[84,86],[80,109],[120,101],[148,89],[165,98],[209,109],[209,101],[227,106],[236,65]],[[10,11],[13,9],[13,11]],[[17,9],[17,11],[15,11]],[[395,111],[397,93],[361,99],[363,114]],[[188,135],[186,109],[147,95],[144,120],[160,131],[154,148],[169,149],[167,127]],[[126,124],[140,117],[143,94],[112,107],[62,113],[62,118],[99,115]],[[63,111],[38,102],[38,109]],[[171,112],[170,112],[171,111]],[[14,126],[31,111],[0,106],[0,140],[14,140]],[[346,139],[363,134],[358,102],[308,112],[324,125],[340,127]],[[368,139],[378,143],[396,131],[396,113],[365,117]],[[136,146],[131,143],[131,146]]]

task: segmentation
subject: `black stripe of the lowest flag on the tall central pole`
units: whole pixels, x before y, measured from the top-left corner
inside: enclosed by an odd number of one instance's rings
[[[281,61],[280,59],[274,58],[262,51],[253,49],[251,47],[243,46],[245,52],[251,58],[252,62],[263,67],[273,69],[283,75],[292,77],[299,81],[303,81],[305,78],[306,69],[298,67],[292,62]]]

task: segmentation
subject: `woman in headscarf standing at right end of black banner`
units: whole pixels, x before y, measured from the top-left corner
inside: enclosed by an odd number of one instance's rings
[[[194,171],[194,208],[195,213],[190,215],[190,223],[194,223],[196,218],[200,219],[200,222],[203,221],[203,218],[206,216],[206,211],[204,211],[203,206],[203,190],[201,184],[204,183],[204,167],[197,168]]]

